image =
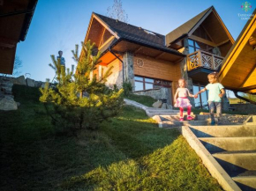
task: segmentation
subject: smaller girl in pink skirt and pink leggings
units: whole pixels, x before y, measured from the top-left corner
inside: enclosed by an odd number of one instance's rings
[[[188,91],[188,89],[185,88],[185,85],[186,85],[185,80],[183,78],[179,79],[178,80],[179,88],[177,88],[177,92],[174,95],[174,101],[175,101],[174,107],[179,107],[179,114],[180,114],[179,121],[184,121],[184,118],[183,118],[184,107],[187,108],[187,120],[193,120],[192,116],[190,115],[192,105],[190,104],[189,99],[187,99],[187,96],[190,96],[192,98],[196,98],[196,96],[192,95]]]

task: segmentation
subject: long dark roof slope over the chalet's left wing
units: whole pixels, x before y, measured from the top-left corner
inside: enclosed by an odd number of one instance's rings
[[[167,48],[165,46],[165,36],[160,33],[154,33],[142,27],[132,26],[117,19],[108,18],[94,12],[93,15],[107,26],[110,33],[115,33],[118,40],[127,40],[176,55],[183,55],[175,49]],[[116,41],[117,40],[115,40],[115,42]]]

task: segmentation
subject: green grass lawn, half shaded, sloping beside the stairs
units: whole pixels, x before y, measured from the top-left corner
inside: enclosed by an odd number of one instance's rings
[[[39,91],[14,85],[0,111],[0,190],[222,190],[177,130],[124,107],[98,131],[54,136]]]

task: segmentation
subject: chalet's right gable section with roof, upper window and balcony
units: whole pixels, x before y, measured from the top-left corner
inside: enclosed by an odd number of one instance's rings
[[[233,44],[213,6],[166,35],[166,46],[187,55],[188,76],[200,84],[207,84],[207,74],[220,69]]]

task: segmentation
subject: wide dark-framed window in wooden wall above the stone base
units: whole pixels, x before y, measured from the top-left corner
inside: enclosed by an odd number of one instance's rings
[[[134,77],[135,80],[135,92],[142,91],[142,90],[151,90],[158,87],[170,87],[171,82],[161,80],[161,79],[154,79],[149,77]]]

